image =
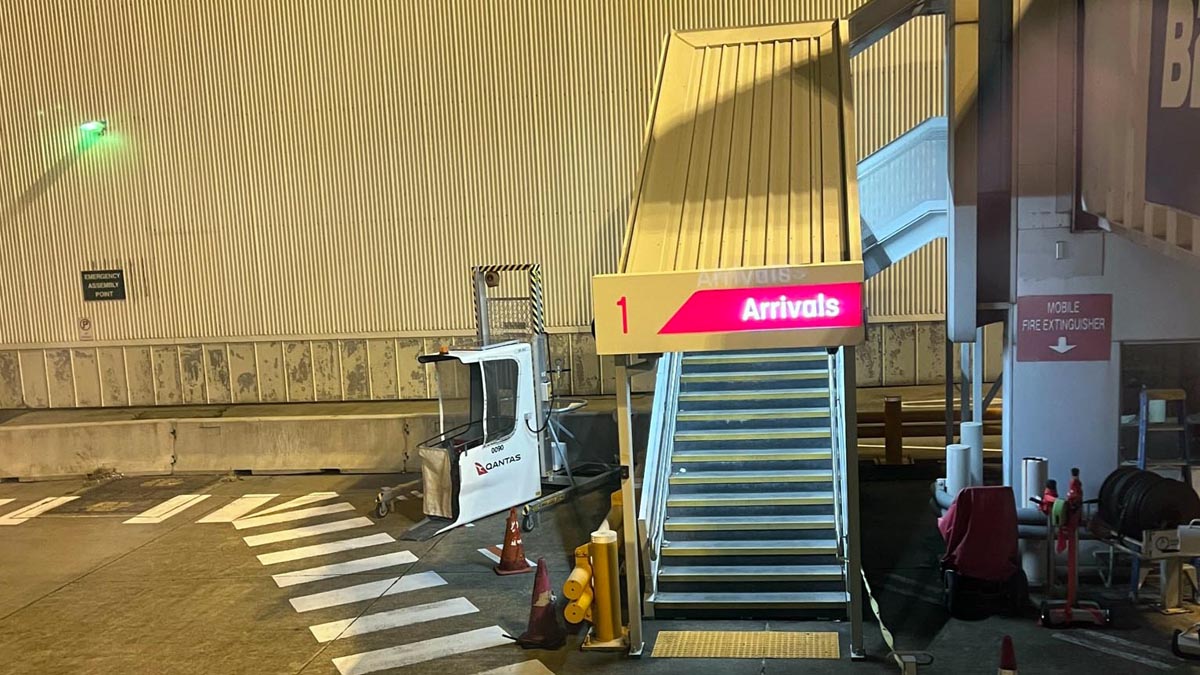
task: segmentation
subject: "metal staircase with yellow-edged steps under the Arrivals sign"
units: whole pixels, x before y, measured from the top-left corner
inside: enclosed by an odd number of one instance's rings
[[[674,414],[659,426],[672,442],[661,466],[647,465],[665,478],[653,488],[662,503],[647,604],[656,616],[844,616],[836,359],[676,357]]]

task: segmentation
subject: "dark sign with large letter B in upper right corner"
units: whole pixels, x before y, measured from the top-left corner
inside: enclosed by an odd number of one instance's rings
[[[1154,0],[1150,26],[1146,201],[1200,215],[1198,0]]]

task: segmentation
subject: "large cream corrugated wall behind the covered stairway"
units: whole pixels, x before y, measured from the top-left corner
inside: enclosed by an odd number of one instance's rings
[[[470,265],[524,262],[548,324],[586,325],[667,31],[858,4],[22,0],[0,345],[76,342],[79,317],[104,342],[469,330]],[[854,60],[860,155],[941,113],[941,26]],[[112,130],[80,151],[91,118]],[[128,299],[83,303],[103,268]]]

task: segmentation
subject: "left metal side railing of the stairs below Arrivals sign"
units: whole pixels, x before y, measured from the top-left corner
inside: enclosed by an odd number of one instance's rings
[[[679,371],[683,354],[666,353],[659,359],[654,382],[650,431],[646,441],[642,494],[637,510],[637,534],[642,546],[646,596],[658,591],[659,552],[666,521],[671,478],[671,448],[674,443],[676,411],[679,406]]]

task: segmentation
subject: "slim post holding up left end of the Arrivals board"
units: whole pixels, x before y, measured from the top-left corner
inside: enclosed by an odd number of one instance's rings
[[[625,590],[629,614],[629,656],[642,655],[642,577],[637,546],[637,495],[634,491],[634,407],[630,398],[629,358],[616,357],[617,442],[620,448],[620,510],[625,536]]]

